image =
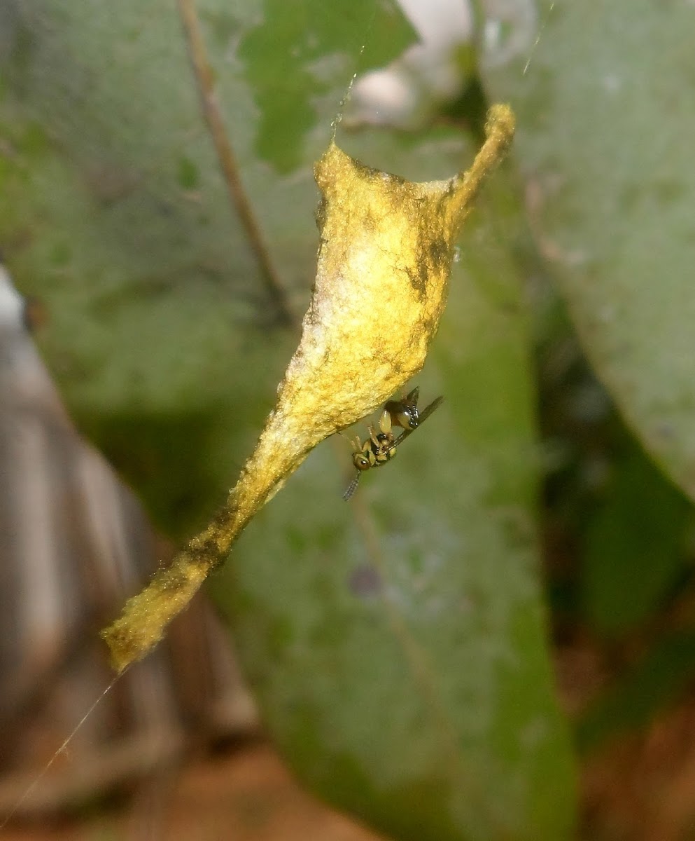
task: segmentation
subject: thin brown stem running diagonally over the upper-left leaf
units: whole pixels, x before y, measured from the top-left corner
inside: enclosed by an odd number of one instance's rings
[[[207,61],[194,0],[179,0],[179,13],[186,34],[186,42],[201,98],[203,114],[212,135],[212,142],[215,144],[217,158],[220,161],[220,167],[222,167],[222,175],[227,183],[233,208],[236,210],[248,236],[248,241],[259,263],[265,286],[277,309],[280,320],[285,325],[295,325],[296,319],[287,302],[282,280],[270,260],[268,247],[265,245],[263,234],[253,216],[251,204],[239,176],[237,158],[234,155],[227,128],[217,103],[212,67]]]

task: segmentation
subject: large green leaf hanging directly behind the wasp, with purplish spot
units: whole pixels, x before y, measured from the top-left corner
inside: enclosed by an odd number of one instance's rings
[[[350,505],[349,470],[312,453],[215,584],[295,770],[418,841],[572,825],[536,583],[525,315],[500,257],[509,198],[489,188],[419,381],[442,409]]]

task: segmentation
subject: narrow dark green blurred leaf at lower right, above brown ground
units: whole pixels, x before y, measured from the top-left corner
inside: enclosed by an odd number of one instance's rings
[[[680,632],[662,640],[584,713],[577,726],[580,750],[593,750],[624,730],[645,727],[692,684],[693,676],[695,633]]]

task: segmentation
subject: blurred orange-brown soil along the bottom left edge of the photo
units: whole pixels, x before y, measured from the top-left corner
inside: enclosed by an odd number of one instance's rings
[[[265,743],[172,770],[127,807],[5,828],[3,841],[379,841],[302,791]]]

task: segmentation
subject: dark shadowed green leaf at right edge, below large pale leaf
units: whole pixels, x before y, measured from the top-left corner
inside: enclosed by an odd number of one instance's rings
[[[687,562],[692,505],[644,454],[616,465],[604,505],[587,531],[584,609],[595,627],[619,633],[660,605]]]

